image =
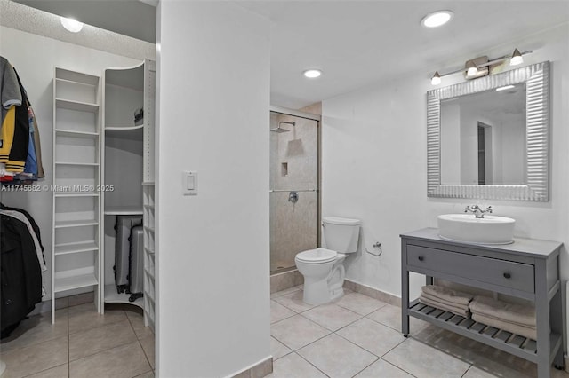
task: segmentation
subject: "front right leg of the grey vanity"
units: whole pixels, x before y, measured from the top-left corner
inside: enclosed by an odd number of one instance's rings
[[[535,320],[537,326],[537,376],[549,378],[549,300],[545,260],[535,264]]]

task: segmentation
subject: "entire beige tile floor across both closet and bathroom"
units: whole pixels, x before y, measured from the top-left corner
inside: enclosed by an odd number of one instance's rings
[[[270,305],[270,378],[536,376],[532,363],[419,319],[405,339],[398,307],[349,290],[310,306],[293,287],[271,295]],[[55,325],[49,313],[25,320],[0,343],[3,378],[154,377],[154,334],[132,310],[107,305],[100,315],[90,303],[57,311]],[[552,377],[569,374],[553,370]]]

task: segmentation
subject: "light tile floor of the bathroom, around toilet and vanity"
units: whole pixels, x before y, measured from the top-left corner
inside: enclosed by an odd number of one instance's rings
[[[333,303],[302,302],[301,287],[271,295],[270,378],[531,378],[524,359],[411,318],[401,335],[398,307],[346,291]],[[557,370],[553,378],[569,378]]]

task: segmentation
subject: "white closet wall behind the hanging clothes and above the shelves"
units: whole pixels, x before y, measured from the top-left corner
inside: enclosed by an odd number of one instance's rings
[[[39,183],[52,185],[53,67],[101,76],[105,68],[131,67],[140,60],[6,27],[0,27],[0,45],[0,54],[18,70],[36,113],[45,171]],[[47,293],[43,299],[48,300],[52,291],[52,193],[0,192],[0,200],[6,206],[27,209],[40,227],[48,266],[43,273]]]

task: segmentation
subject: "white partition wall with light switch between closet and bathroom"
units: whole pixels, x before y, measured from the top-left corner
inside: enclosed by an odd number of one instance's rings
[[[159,5],[157,376],[270,355],[268,35],[236,4]],[[182,170],[198,195],[181,195]]]

